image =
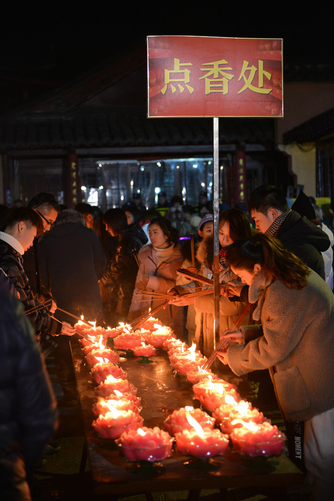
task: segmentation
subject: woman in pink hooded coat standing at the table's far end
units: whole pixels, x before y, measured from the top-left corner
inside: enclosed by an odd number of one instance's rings
[[[147,312],[150,307],[159,305],[151,299],[143,301],[140,291],[167,293],[176,283],[176,270],[181,268],[183,257],[178,241],[178,232],[166,217],[152,219],[149,225],[151,243],[144,245],[139,252],[140,267],[136,288],[129,311],[129,322]],[[183,336],[183,310],[172,305],[161,309],[156,317],[174,329],[176,335]]]

